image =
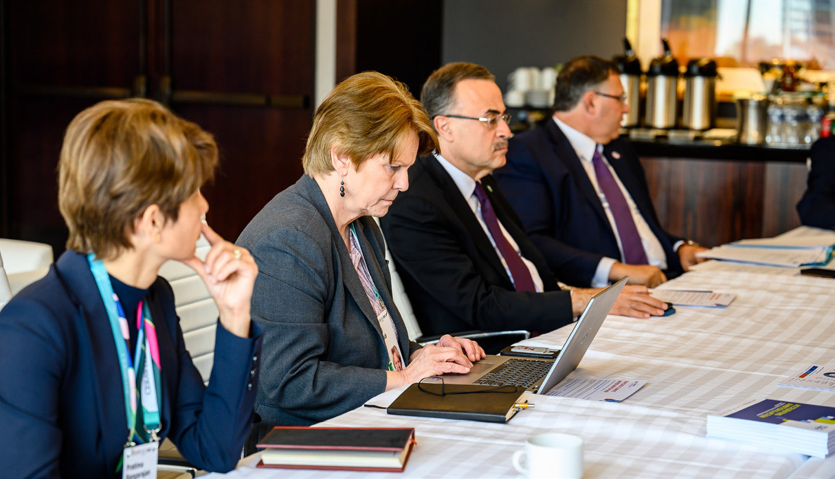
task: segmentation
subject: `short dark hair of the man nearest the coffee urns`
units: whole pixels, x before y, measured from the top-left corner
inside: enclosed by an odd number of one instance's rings
[[[583,94],[620,74],[617,64],[594,55],[572,58],[563,65],[557,75],[554,93],[554,111],[567,112],[583,98]]]

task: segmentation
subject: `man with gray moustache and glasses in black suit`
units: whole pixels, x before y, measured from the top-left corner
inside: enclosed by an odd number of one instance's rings
[[[440,151],[417,159],[407,191],[380,219],[421,330],[554,330],[599,290],[561,290],[490,176],[510,137],[502,93],[486,68],[450,63],[421,101]],[[614,314],[648,318],[664,303],[632,286]]]

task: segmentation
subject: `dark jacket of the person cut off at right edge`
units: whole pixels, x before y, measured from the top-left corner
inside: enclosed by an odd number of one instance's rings
[[[835,229],[835,136],[817,140],[810,156],[812,170],[797,214],[802,224]]]

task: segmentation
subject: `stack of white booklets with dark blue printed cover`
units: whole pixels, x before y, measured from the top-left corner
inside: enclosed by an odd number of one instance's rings
[[[707,416],[707,436],[826,457],[835,450],[835,407],[748,401],[719,416]]]

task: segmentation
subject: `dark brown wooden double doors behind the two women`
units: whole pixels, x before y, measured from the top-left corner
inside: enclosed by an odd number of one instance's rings
[[[105,98],[154,98],[215,134],[220,169],[204,192],[227,239],[301,175],[314,0],[4,1],[0,15],[0,236],[63,250],[63,130]]]

